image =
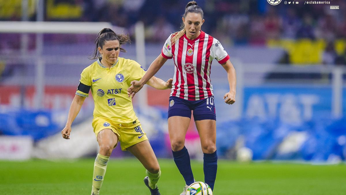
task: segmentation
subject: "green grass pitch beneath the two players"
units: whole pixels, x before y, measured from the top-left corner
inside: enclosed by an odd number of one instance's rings
[[[184,181],[172,159],[159,159],[162,195],[179,195]],[[94,159],[76,161],[0,161],[2,195],[89,195]],[[203,163],[191,162],[195,179],[203,181]],[[101,195],[146,195],[145,170],[136,159],[108,163]],[[346,165],[311,165],[219,160],[216,195],[346,194]]]

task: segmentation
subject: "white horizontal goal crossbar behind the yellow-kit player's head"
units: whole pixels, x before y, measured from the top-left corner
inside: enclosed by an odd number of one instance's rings
[[[111,28],[121,33],[125,29],[112,26],[109,22],[27,22],[3,21],[0,22],[1,33],[69,33],[69,34],[97,34],[102,28]]]

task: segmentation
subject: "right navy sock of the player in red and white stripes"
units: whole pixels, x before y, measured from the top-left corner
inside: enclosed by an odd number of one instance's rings
[[[203,153],[203,171],[204,182],[210,186],[211,190],[213,190],[217,171],[216,151],[212,154]]]

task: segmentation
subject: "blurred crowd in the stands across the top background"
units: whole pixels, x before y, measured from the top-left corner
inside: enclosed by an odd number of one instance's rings
[[[4,1],[4,0],[0,0]],[[17,7],[21,0],[15,0]],[[13,1],[13,2],[15,2]],[[29,8],[33,7],[33,0]],[[202,30],[227,45],[265,46],[270,40],[323,40],[323,63],[345,64],[346,1],[334,1],[338,10],[325,4],[271,6],[265,0],[197,0],[204,11]],[[4,1],[4,6],[13,6]],[[146,27],[146,41],[162,44],[179,31],[188,0],[45,0],[45,21],[111,22],[129,29],[137,21]],[[334,3],[333,2],[333,3]],[[8,9],[10,10],[10,9]],[[30,9],[29,20],[35,20]],[[7,11],[1,20],[21,20],[20,12]],[[341,41],[340,41],[341,40]],[[337,41],[337,43],[336,43]]]

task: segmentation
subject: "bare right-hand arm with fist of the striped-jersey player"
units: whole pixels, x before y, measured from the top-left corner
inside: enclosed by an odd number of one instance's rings
[[[233,104],[236,101],[236,70],[233,67],[231,61],[227,60],[221,64],[222,67],[227,71],[227,79],[229,83],[229,92],[224,95],[225,103]]]

